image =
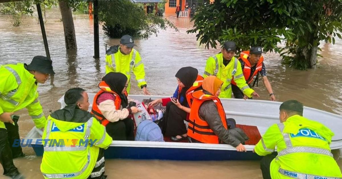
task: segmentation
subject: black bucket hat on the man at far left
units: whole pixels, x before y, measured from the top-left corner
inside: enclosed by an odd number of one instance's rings
[[[33,57],[31,63],[27,65],[27,70],[40,73],[55,74],[52,69],[52,61],[44,56]]]

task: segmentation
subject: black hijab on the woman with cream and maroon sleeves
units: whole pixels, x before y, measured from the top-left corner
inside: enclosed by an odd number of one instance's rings
[[[105,81],[106,84],[109,86],[109,88],[120,96],[121,106],[123,108],[127,107],[128,106],[127,96],[124,94],[121,94],[127,82],[126,75],[122,73],[109,72],[102,78],[102,81]]]

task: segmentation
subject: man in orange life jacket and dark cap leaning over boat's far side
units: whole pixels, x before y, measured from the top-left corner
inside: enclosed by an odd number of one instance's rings
[[[259,75],[262,77],[262,81],[266,90],[269,93],[269,96],[272,101],[276,101],[276,97],[273,93],[271,84],[269,83],[267,76],[266,76],[266,68],[264,64],[264,57],[261,55],[262,49],[261,47],[252,47],[249,51],[242,51],[239,57],[239,61],[241,63],[242,72],[244,73],[246,83],[249,87],[254,87],[255,82],[257,82],[258,86],[258,79]],[[255,81],[253,82],[253,77]],[[234,94],[234,98],[236,99],[248,99],[248,96],[244,95],[242,91],[236,86],[235,81],[232,81],[232,90]]]

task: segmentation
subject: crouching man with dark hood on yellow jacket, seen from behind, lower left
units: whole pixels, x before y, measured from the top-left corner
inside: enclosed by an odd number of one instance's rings
[[[48,117],[43,139],[83,139],[96,142],[93,146],[44,147],[40,170],[47,178],[105,179],[103,149],[109,147],[111,137],[106,129],[87,110],[89,98],[82,88],[71,88],[64,95],[67,106]]]

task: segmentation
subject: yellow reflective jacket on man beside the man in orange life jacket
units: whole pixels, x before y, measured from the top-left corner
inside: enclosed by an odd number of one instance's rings
[[[237,58],[233,57],[227,66],[225,66],[223,64],[223,56],[221,53],[209,57],[203,77],[206,78],[210,75],[215,75],[223,81],[219,98],[232,98],[231,81],[233,78],[237,87],[239,87],[248,97],[252,97],[254,90],[249,88],[248,84],[246,84],[246,80],[241,69],[241,63]]]

